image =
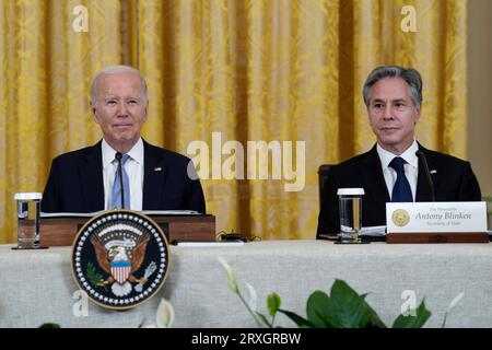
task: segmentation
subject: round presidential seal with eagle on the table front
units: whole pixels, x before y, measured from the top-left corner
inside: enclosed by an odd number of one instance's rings
[[[148,301],[164,284],[168,267],[165,235],[139,212],[112,210],[91,219],[72,246],[77,284],[106,308],[127,310]]]

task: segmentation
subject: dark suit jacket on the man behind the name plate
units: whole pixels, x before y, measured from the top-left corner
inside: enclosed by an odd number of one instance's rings
[[[436,201],[480,201],[480,186],[469,162],[431,151],[419,144],[425,154]],[[432,194],[424,166],[419,159],[415,201],[431,201]],[[433,172],[435,171],[435,172]],[[327,186],[321,192],[321,210],[318,218],[317,237],[324,233],[340,231],[337,189],[363,187],[362,225],[386,225],[386,202],[390,201],[376,145],[371,151],[332,166]]]

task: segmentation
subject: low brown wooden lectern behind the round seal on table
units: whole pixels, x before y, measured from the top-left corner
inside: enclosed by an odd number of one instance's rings
[[[215,241],[214,215],[148,215],[173,241]],[[42,246],[71,246],[78,232],[92,218],[42,218],[39,243]]]

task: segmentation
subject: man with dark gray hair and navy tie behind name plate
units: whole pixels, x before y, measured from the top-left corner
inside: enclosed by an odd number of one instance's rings
[[[364,188],[363,226],[385,225],[389,201],[481,200],[469,162],[427,150],[415,140],[422,110],[422,79],[417,70],[378,67],[367,77],[362,93],[377,143],[329,170],[318,238],[340,231],[338,188]]]

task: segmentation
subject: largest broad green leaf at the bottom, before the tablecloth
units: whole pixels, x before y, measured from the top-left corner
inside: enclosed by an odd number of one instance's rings
[[[385,328],[376,312],[347,282],[336,280],[324,319],[340,328]]]

